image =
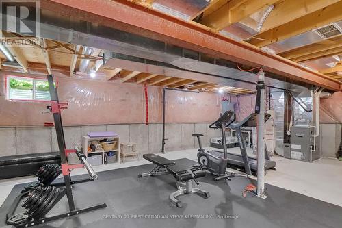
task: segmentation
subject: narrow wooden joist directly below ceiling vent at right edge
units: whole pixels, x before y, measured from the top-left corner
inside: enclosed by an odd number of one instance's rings
[[[320,51],[326,51],[329,49],[334,49],[337,47],[342,47],[342,38],[339,40],[334,40],[334,44],[332,45],[322,45],[322,44],[312,44],[312,45],[306,45],[304,47],[300,47],[298,49],[293,49],[291,51],[287,51],[284,53],[280,53],[278,55],[287,58],[287,59],[293,59],[298,58],[304,55],[317,53]]]

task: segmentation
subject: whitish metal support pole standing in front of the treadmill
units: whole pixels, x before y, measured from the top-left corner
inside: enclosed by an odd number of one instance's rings
[[[260,90],[260,97],[259,101],[259,113],[257,116],[257,134],[258,134],[258,144],[257,144],[257,163],[258,163],[258,170],[257,170],[257,177],[258,177],[258,186],[257,192],[258,197],[263,199],[266,198],[265,196],[265,73],[263,71],[259,71],[258,73],[258,85],[257,88]]]

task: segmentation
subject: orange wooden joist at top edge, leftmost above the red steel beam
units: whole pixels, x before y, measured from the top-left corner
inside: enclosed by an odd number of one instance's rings
[[[278,0],[247,0],[243,3],[241,1],[229,1],[215,12],[203,17],[199,23],[220,31],[268,5],[274,4],[276,1]],[[239,5],[237,6],[237,4]]]

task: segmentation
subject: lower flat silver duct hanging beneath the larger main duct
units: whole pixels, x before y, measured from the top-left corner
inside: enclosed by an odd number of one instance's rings
[[[174,60],[170,64],[166,64],[143,58],[135,58],[129,55],[112,53],[111,58],[106,62],[106,66],[170,77],[183,77],[196,81],[207,81],[220,86],[232,86],[250,90],[255,89],[255,83],[257,81],[257,75],[228,68],[224,66],[224,62],[220,62],[220,60],[213,64],[182,57],[178,60]],[[213,75],[215,75],[215,77]],[[293,91],[294,94],[311,94],[310,90],[307,88],[269,77],[265,78],[265,83],[268,86],[289,89]]]

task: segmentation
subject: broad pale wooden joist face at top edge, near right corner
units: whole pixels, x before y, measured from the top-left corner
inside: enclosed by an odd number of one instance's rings
[[[339,0],[283,0],[275,4],[274,9],[263,23],[261,32],[268,31],[279,25],[289,23],[306,14],[321,10]]]

